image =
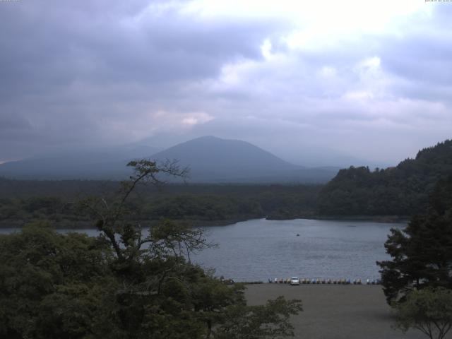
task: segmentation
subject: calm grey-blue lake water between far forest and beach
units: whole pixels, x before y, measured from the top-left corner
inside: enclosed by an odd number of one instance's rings
[[[192,256],[215,275],[236,281],[268,278],[380,278],[375,261],[385,260],[391,227],[405,224],[336,220],[248,220],[203,227],[218,244]],[[0,229],[0,233],[17,229]],[[68,232],[62,230],[62,232]],[[83,230],[96,235],[96,230]],[[297,236],[299,234],[299,236]]]

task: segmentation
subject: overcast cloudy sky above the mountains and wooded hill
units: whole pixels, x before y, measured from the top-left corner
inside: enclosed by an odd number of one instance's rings
[[[452,2],[0,1],[0,162],[213,135],[396,163],[451,132]]]

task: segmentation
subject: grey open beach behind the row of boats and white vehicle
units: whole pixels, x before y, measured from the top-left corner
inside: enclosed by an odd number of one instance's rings
[[[420,331],[392,328],[394,320],[379,285],[247,285],[250,305],[283,295],[302,299],[303,309],[294,316],[295,338],[304,339],[402,339],[427,338]],[[452,338],[448,333],[446,338]]]

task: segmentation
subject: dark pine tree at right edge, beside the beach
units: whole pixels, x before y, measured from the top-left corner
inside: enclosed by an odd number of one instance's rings
[[[385,247],[392,260],[378,264],[388,303],[403,301],[413,289],[452,289],[452,177],[436,184],[427,214],[391,230]]]

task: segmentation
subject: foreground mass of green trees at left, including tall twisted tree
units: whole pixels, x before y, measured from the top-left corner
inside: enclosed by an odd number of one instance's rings
[[[190,261],[211,246],[169,220],[148,234],[129,218],[138,184],[183,176],[174,163],[131,162],[117,199],[81,201],[100,231],[59,234],[45,222],[0,236],[0,338],[282,338],[301,301],[246,306],[244,286],[225,285]]]

